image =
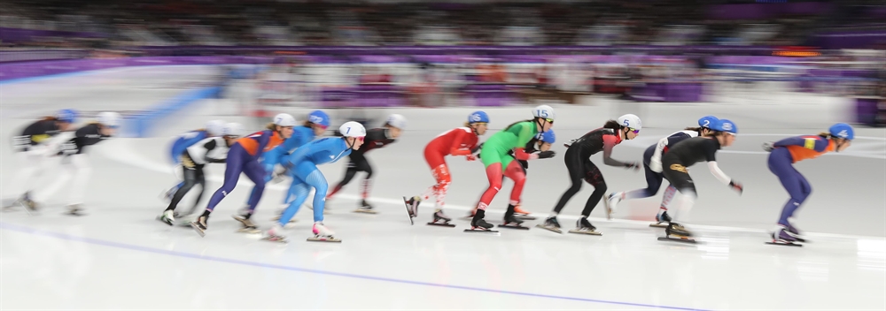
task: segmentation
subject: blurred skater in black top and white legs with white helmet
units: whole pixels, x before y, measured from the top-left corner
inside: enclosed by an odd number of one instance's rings
[[[74,177],[74,183],[69,186],[70,196],[66,201],[68,213],[81,215],[83,197],[86,194],[86,186],[89,182],[89,174],[92,168],[89,166],[87,147],[95,145],[102,140],[113,136],[117,127],[120,126],[120,114],[117,112],[102,112],[98,114],[96,122],[84,125],[76,132],[59,134],[53,139],[51,152],[56,156],[62,156],[61,176],[56,178],[50,186],[35,191],[33,200],[35,206],[43,203],[65,186],[67,179]]]

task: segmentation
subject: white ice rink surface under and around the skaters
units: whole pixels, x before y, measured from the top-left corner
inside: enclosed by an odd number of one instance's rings
[[[135,72],[142,80],[167,83],[135,93],[136,82],[105,72],[0,84],[3,137],[60,108],[144,110],[180,92],[175,85],[202,79],[192,70],[188,72],[194,76],[177,82],[160,79],[168,76],[164,71]],[[600,237],[559,235],[538,228],[465,233],[468,222],[461,219],[454,220],[454,229],[427,226],[430,202],[410,225],[400,197],[420,193],[433,181],[421,156],[424,144],[461,125],[470,108],[398,110],[409,119],[408,131],[395,144],[368,154],[375,166],[370,201],[380,214],[351,212],[359,180],[329,202],[325,224],[343,239],[341,244],[305,241],[311,235],[309,209],[299,211],[299,221],[286,232],[289,244],[235,232],[237,223],[229,215],[245,202],[251,186],[246,178],[216,209],[205,238],[190,228],[159,223],[155,217],[165,204],[158,193],[175,181],[166,158],[170,138],[214,118],[250,123],[235,116],[237,111],[230,106],[226,101],[200,102],[160,125],[156,137],[120,138],[95,146],[89,151],[94,171],[88,216],[62,215],[66,193],[46,202],[39,215],[29,216],[21,209],[0,214],[0,308],[886,308],[886,134],[882,130],[859,129],[862,138],[846,153],[797,164],[813,189],[797,213],[797,226],[809,231],[812,240],[804,247],[764,244],[788,197],[766,169],[766,154],[759,145],[822,129],[818,125],[742,129],[741,113],[720,114],[732,118],[742,133],[733,147],[719,152],[718,159],[723,171],[744,183],[743,195],[719,184],[703,165],[690,168],[699,191],[688,224],[700,235],[702,243],[695,246],[657,241],[663,230],[648,224],[660,196],[623,202],[613,221],[602,219],[601,203],[591,219],[603,232]],[[674,118],[685,119],[686,125],[708,114],[705,107],[674,108],[684,109],[689,110],[686,116],[680,113]],[[614,117],[597,113],[598,107],[556,106],[556,110],[555,130],[561,141]],[[292,110],[296,117],[306,111]],[[529,114],[525,107],[487,111],[494,129]],[[333,113],[344,118],[342,111]],[[679,129],[645,128],[637,140],[619,145],[614,157],[640,161],[643,148]],[[9,185],[15,182],[16,162],[9,144],[0,146],[0,182]],[[564,151],[560,143],[554,150],[561,156]],[[599,155],[592,161],[602,162]],[[455,157],[447,162],[454,182],[446,210],[450,216],[463,216],[485,190],[486,176],[481,163]],[[525,209],[540,218],[527,223],[534,226],[548,215],[568,180],[560,156],[530,165],[523,199]],[[332,163],[322,171],[334,184],[345,166]],[[201,208],[220,186],[223,166],[210,165],[207,171],[209,186]],[[645,186],[641,172],[605,166],[602,172],[610,191]],[[286,186],[288,182],[268,187],[253,217],[264,228],[272,224],[270,218],[279,209]],[[487,214],[491,223],[501,221],[509,191],[506,182],[491,205],[494,210]],[[563,210],[564,229],[574,225],[591,192],[590,186],[584,186]],[[183,201],[184,206],[191,198]]]

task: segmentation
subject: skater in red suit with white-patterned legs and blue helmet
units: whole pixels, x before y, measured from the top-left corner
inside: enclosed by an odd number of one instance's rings
[[[406,200],[410,217],[416,216],[419,202],[428,200],[433,195],[436,197],[437,202],[434,205],[435,212],[432,223],[446,224],[452,220],[443,214],[447,189],[449,188],[449,183],[452,182],[444,157],[465,156],[468,161],[477,160],[477,156],[473,155],[473,150],[477,148],[480,135],[486,133],[486,125],[488,123],[489,116],[486,115],[486,112],[476,111],[468,116],[468,122],[465,123],[464,127],[458,127],[442,133],[428,143],[427,147],[424,148],[424,160],[431,166],[431,174],[437,180],[437,184],[428,187],[424,193]]]

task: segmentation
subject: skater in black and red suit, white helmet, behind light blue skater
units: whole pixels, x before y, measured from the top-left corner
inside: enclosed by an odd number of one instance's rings
[[[403,116],[398,114],[392,114],[387,118],[385,125],[381,128],[374,128],[366,131],[366,141],[363,143],[363,147],[359,150],[354,150],[354,152],[351,153],[351,162],[347,163],[345,178],[339,181],[338,185],[333,187],[332,191],[326,195],[326,201],[332,200],[332,196],[350,183],[351,179],[354,179],[354,175],[356,175],[357,172],[365,171],[366,178],[363,179],[360,185],[360,206],[355,212],[375,214],[376,210],[366,201],[366,199],[369,198],[369,188],[372,186],[372,165],[369,165],[369,161],[366,159],[366,153],[369,152],[369,150],[383,148],[392,144],[398,137],[400,137],[400,133],[405,127],[406,118],[403,118]],[[340,133],[336,133],[336,135],[340,136]],[[329,206],[327,205],[327,208],[328,207]]]

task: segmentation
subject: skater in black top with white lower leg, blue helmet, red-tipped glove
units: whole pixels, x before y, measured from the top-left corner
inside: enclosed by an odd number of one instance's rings
[[[720,171],[717,165],[717,150],[721,147],[729,147],[735,141],[735,134],[738,128],[732,121],[722,119],[716,125],[711,127],[714,131],[710,136],[690,138],[683,140],[675,145],[662,157],[662,173],[664,178],[677,188],[684,198],[680,204],[680,209],[672,213],[671,224],[664,229],[664,233],[670,238],[688,239],[692,237],[692,232],[683,227],[682,221],[688,216],[689,209],[696,201],[696,185],[689,177],[687,168],[695,163],[707,162],[711,174],[714,175],[723,184],[729,185],[730,188],[738,192],[743,191],[742,184],[729,178],[723,171]]]

